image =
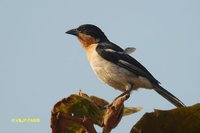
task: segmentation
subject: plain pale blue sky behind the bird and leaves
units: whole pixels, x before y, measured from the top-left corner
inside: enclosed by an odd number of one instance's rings
[[[79,89],[111,101],[119,91],[100,82],[83,48],[65,31],[99,26],[186,105],[200,101],[200,1],[198,0],[0,0],[0,129],[51,132],[50,113]],[[144,109],[122,119],[114,133],[129,132],[153,109],[174,106],[154,91],[133,92],[126,106]],[[40,123],[12,123],[12,118]],[[100,131],[100,130],[99,130]]]

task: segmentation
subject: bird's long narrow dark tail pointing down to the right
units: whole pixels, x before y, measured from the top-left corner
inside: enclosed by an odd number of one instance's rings
[[[163,96],[165,99],[167,99],[169,102],[174,104],[176,107],[185,107],[185,104],[179,100],[177,97],[172,95],[169,91],[165,90],[162,86],[156,85],[154,90]]]

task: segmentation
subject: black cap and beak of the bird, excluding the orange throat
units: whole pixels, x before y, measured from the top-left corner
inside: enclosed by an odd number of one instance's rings
[[[105,36],[103,31],[92,24],[81,25],[78,28],[67,31],[66,33],[75,35],[77,37],[79,37],[80,34],[88,35],[98,40],[99,42],[108,41],[108,38]]]

